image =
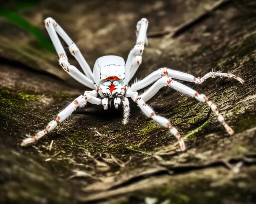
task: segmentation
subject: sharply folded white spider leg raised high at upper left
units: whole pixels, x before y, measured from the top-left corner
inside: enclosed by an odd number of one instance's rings
[[[68,73],[71,77],[73,77],[75,80],[80,82],[81,84],[84,84],[85,86],[94,89],[94,77],[92,74],[92,71],[88,65],[88,63],[85,61],[84,57],[82,56],[80,50],[75,45],[75,43],[70,39],[70,37],[66,34],[66,32],[60,27],[58,24],[56,24],[55,20],[52,18],[46,18],[44,21],[45,27],[50,35],[50,38],[52,40],[52,43],[60,57],[59,64],[60,66]],[[70,65],[68,62],[68,57],[66,56],[66,53],[64,51],[64,48],[60,42],[60,39],[58,38],[57,33],[64,39],[64,41],[68,44],[70,53],[76,58],[80,66],[82,67],[84,73],[88,77],[86,77],[84,74],[82,74],[76,67]]]

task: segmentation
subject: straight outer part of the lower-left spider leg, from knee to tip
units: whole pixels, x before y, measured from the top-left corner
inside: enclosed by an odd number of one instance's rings
[[[81,104],[83,102],[83,96],[78,96],[74,101],[72,101],[66,108],[64,108],[56,117],[56,120],[52,120],[49,122],[49,124],[46,126],[46,128],[42,131],[39,131],[34,137],[26,138],[22,141],[21,146],[25,147],[28,145],[32,145],[38,139],[46,135],[48,132],[52,131],[54,128],[56,128],[58,122],[63,122],[68,116],[72,114],[74,110],[79,106],[79,103]]]

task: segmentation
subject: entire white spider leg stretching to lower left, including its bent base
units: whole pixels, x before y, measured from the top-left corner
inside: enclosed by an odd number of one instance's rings
[[[58,123],[61,123],[64,120],[66,120],[66,118],[68,118],[68,116],[70,116],[72,112],[74,112],[78,107],[80,108],[84,107],[86,104],[86,101],[92,104],[98,104],[98,105],[101,104],[101,99],[96,98],[95,96],[92,96],[92,95],[93,93],[90,94],[90,92],[85,92],[84,95],[78,96],[66,108],[64,108],[61,112],[59,112],[56,119],[49,122],[44,130],[39,131],[34,137],[28,137],[24,139],[21,143],[21,146],[25,147],[28,145],[32,145],[33,143],[38,141],[38,139],[40,139],[41,137],[46,135],[48,132],[55,129]]]

